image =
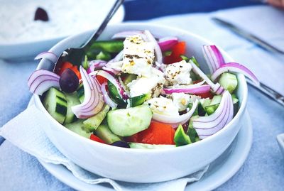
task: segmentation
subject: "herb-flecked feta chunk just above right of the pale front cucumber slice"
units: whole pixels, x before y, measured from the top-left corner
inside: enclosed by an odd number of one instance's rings
[[[172,99],[165,97],[154,97],[146,102],[153,113],[167,116],[178,116],[178,107],[175,106]]]

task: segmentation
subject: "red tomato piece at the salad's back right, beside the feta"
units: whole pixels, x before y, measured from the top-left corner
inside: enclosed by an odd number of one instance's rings
[[[174,45],[172,48],[172,53],[169,56],[165,56],[164,64],[168,65],[182,61],[180,55],[185,55],[185,48],[186,43],[184,41],[178,42],[176,45]]]

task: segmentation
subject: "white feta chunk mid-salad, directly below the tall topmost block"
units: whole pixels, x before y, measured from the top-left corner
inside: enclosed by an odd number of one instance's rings
[[[152,97],[157,97],[163,89],[164,83],[165,78],[163,77],[163,72],[151,67],[150,76],[138,77],[136,80],[127,84],[127,87],[129,87],[131,97],[148,93],[151,93]]]

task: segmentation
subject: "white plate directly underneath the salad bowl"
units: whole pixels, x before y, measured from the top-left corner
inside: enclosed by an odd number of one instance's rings
[[[197,182],[192,182],[187,185],[185,190],[213,190],[224,182],[229,180],[244,164],[253,138],[253,130],[251,126],[251,119],[246,111],[244,124],[241,127],[231,146],[210,165],[207,173]],[[39,160],[40,161],[40,160]],[[113,191],[114,189],[107,185],[90,185],[75,178],[72,173],[63,165],[54,165],[51,163],[44,163],[40,161],[43,167],[48,170],[55,178],[64,182],[66,185],[76,190],[100,190]]]

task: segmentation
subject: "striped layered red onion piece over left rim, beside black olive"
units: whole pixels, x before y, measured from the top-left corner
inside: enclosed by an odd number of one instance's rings
[[[42,95],[50,87],[58,87],[60,76],[48,70],[35,70],[28,78],[28,87],[33,94]]]

